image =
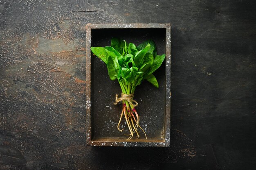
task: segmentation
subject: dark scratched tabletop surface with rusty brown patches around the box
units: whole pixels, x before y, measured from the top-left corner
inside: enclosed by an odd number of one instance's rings
[[[253,169],[256,1],[1,0],[0,169]],[[171,147],[85,143],[85,25],[171,23]]]

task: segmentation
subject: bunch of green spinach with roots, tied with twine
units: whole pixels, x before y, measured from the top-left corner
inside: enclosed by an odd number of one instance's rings
[[[125,40],[119,38],[112,38],[111,46],[105,48],[91,47],[91,50],[106,63],[110,79],[117,79],[120,84],[122,97],[124,97],[121,98],[123,99],[123,109],[117,125],[118,130],[124,130],[119,129],[119,124],[124,115],[130,131],[128,139],[131,139],[134,133],[137,133],[137,138],[139,137],[138,127],[146,136],[145,131],[139,126],[139,116],[135,109],[137,102],[132,100],[132,97],[137,85],[140,85],[143,80],[158,88],[157,79],[153,73],[164,61],[165,54],[157,55],[153,40],[144,41],[139,46],[135,46],[135,44],[127,44]],[[135,113],[136,118],[133,113]]]

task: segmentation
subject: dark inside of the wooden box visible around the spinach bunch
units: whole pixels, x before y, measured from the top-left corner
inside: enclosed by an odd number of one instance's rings
[[[111,38],[119,37],[126,43],[134,43],[138,46],[143,41],[153,39],[157,46],[157,54],[166,53],[166,28],[104,28],[92,29],[91,46],[110,46]],[[153,87],[147,81],[143,81],[135,90],[134,99],[139,103],[137,112],[140,117],[140,126],[146,132],[140,130],[139,140],[133,138],[130,141],[128,127],[122,118],[120,129],[117,124],[121,116],[121,104],[114,105],[115,95],[121,95],[121,88],[117,80],[111,81],[108,76],[106,64],[91,53],[91,135],[92,141],[106,142],[164,142],[165,126],[165,98],[166,98],[166,62],[154,73],[159,83],[159,89]]]

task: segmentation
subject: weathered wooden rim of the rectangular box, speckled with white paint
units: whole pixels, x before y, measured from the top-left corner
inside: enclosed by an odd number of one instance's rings
[[[102,28],[165,28],[166,29],[166,98],[165,98],[165,127],[162,140],[142,139],[123,140],[118,138],[92,138],[91,131],[91,41],[92,29]],[[87,24],[86,25],[86,142],[90,146],[170,146],[171,128],[171,24]]]

